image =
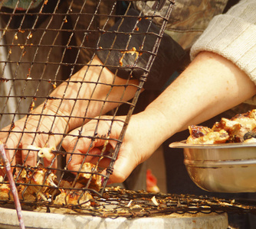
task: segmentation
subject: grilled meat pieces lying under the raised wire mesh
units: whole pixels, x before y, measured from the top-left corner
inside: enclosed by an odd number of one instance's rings
[[[82,205],[90,206],[90,199],[93,197],[84,188],[99,191],[101,188],[101,176],[97,172],[97,166],[91,163],[84,163],[78,173],[71,179],[62,179],[59,183],[57,176],[48,168],[41,166],[17,166],[14,169],[14,178],[18,197],[22,201],[51,201],[56,205]],[[3,181],[0,183],[0,199],[13,200],[10,185]],[[75,182],[75,183],[74,183]],[[73,190],[72,188],[76,189]],[[79,190],[80,189],[80,190]]]

